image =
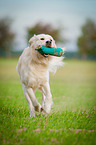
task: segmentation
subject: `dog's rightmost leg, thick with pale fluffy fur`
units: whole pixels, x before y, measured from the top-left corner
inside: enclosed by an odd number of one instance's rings
[[[52,105],[52,95],[50,92],[50,86],[48,82],[43,86],[43,93],[45,96],[43,109],[46,113],[50,113],[51,105]]]

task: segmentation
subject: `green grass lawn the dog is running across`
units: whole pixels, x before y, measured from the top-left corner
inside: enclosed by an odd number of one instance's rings
[[[0,145],[95,145],[96,62],[65,60],[50,74],[51,113],[30,118],[17,61],[0,59]],[[39,91],[36,97],[41,103]]]

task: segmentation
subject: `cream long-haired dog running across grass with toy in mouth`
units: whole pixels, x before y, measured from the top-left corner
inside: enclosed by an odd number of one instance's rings
[[[35,50],[39,46],[56,47],[56,44],[50,35],[34,35],[29,40],[29,46],[24,49],[16,66],[24,95],[29,104],[30,117],[35,116],[35,111],[50,113],[52,95],[49,72],[55,73],[57,68],[63,65],[63,57],[42,55]],[[42,92],[42,106],[35,97],[36,89]]]

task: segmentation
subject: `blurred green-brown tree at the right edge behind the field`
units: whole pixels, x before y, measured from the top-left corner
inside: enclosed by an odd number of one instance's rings
[[[77,40],[79,52],[86,58],[86,55],[96,55],[96,23],[91,19],[81,27],[81,36]]]

